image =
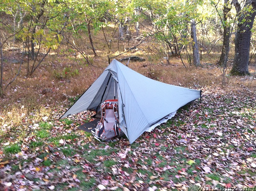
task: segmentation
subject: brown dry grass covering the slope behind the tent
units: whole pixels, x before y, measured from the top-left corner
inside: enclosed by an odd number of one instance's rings
[[[109,31],[106,32],[110,35]],[[26,76],[26,63],[24,63],[20,76],[7,88],[6,96],[0,98],[0,107],[4,108],[1,109],[0,113],[0,126],[4,124],[8,124],[8,126],[19,126],[23,123],[22,120],[24,117],[29,118],[29,113],[33,111],[35,111],[33,120],[37,121],[41,120],[44,116],[51,116],[51,111],[60,108],[60,105],[68,107],[67,97],[82,94],[97,79],[105,67],[107,67],[107,55],[118,50],[117,38],[112,39],[111,50],[108,49],[101,32],[93,40],[99,56],[94,58],[89,48],[87,52],[90,61],[96,67],[87,65],[81,59],[81,55],[76,54],[75,57],[72,53],[66,51],[67,48],[65,47],[60,47],[54,54],[47,56],[32,77],[24,77]],[[129,43],[120,41],[119,50],[111,54],[110,57],[127,50],[137,43],[136,40],[131,40]],[[84,44],[89,44],[89,42],[87,37],[83,36],[76,44],[77,46],[84,46]],[[138,47],[138,50],[128,52],[117,58],[129,55],[144,57],[146,59],[145,62],[130,62],[129,67],[145,76],[164,83],[196,89],[221,85],[222,68],[215,65],[220,52],[210,54],[203,52],[203,60],[201,61],[203,67],[199,68],[190,66],[184,54],[182,58],[187,66],[185,68],[178,57],[173,57],[170,60],[170,64],[167,65],[164,54],[161,51],[160,53],[157,52],[156,48],[154,48],[157,46],[159,45],[154,41],[145,42]],[[10,54],[12,53],[9,51],[4,52],[5,57],[10,56]],[[15,56],[19,56],[19,52],[15,52]],[[232,52],[230,57],[232,58]],[[11,71],[17,71],[19,65],[12,64],[8,60],[5,65],[4,81],[9,81],[11,75],[8,74]],[[56,74],[61,74],[64,68],[69,68],[71,72],[77,70],[78,73],[75,73],[72,77],[60,79]],[[230,69],[231,65],[228,67],[227,74]],[[253,73],[254,71],[255,66],[250,66],[250,72]],[[223,88],[240,91],[241,85],[243,85],[255,91],[256,80],[251,80],[251,78],[227,76],[227,85]],[[42,90],[45,88],[51,88],[53,93],[43,95]],[[24,105],[24,108],[21,108],[22,105]],[[23,115],[22,113],[25,116],[20,117]]]

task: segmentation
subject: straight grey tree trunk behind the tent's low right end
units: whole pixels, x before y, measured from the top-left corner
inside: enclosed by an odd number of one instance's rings
[[[196,23],[193,20],[190,20],[191,23],[191,38],[193,39],[193,64],[197,67],[200,66],[200,56],[199,56],[199,50],[198,50],[198,43],[196,39]]]

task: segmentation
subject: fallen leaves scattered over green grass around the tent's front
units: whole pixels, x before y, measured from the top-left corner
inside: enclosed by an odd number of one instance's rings
[[[218,87],[203,92],[201,104],[195,101],[181,108],[132,145],[126,138],[102,144],[78,130],[79,124],[91,120],[92,112],[62,121],[55,112],[42,118],[49,128],[27,121],[20,127],[27,128],[21,141],[13,135],[0,143],[0,189],[254,187],[255,92]],[[9,131],[6,125],[2,128]],[[19,149],[6,149],[13,145]]]

